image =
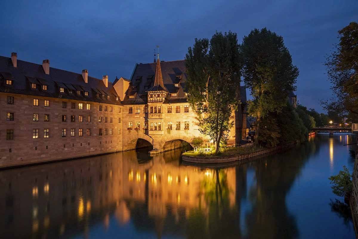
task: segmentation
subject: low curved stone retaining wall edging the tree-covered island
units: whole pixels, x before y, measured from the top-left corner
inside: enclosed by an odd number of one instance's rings
[[[229,163],[234,161],[241,161],[248,158],[255,158],[262,155],[275,154],[287,150],[288,148],[294,146],[296,142],[287,143],[285,145],[276,146],[273,148],[265,148],[251,153],[245,154],[233,154],[233,155],[224,155],[224,156],[214,156],[214,157],[204,157],[204,156],[186,156],[182,155],[184,162],[190,162],[195,164],[221,164]]]

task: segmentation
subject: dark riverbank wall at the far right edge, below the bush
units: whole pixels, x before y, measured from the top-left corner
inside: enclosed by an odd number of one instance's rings
[[[353,191],[350,197],[350,210],[355,230],[355,238],[358,238],[358,151],[355,152],[355,161],[353,169]]]

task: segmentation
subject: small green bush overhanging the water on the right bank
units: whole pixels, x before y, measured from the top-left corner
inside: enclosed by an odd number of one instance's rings
[[[349,173],[346,166],[343,166],[343,171],[339,171],[339,174],[330,176],[328,179],[331,180],[330,183],[333,184],[331,188],[335,195],[344,197],[352,192],[352,175]]]

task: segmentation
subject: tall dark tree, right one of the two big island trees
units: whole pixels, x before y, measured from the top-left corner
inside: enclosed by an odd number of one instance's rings
[[[241,51],[243,77],[253,97],[248,111],[257,118],[256,143],[259,143],[261,120],[270,113],[280,113],[286,106],[287,92],[296,89],[299,71],[292,64],[282,36],[266,28],[254,29],[245,36]]]

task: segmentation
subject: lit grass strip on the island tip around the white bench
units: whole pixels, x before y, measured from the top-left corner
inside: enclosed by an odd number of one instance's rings
[[[261,150],[260,147],[255,146],[248,146],[248,147],[225,147],[221,148],[219,153],[215,153],[215,149],[212,149],[212,152],[207,152],[206,154],[204,152],[196,151],[194,150],[188,151],[183,153],[185,156],[200,156],[200,157],[216,157],[216,156],[227,156],[227,155],[234,155],[234,154],[245,154],[245,153],[251,153],[258,150]]]

